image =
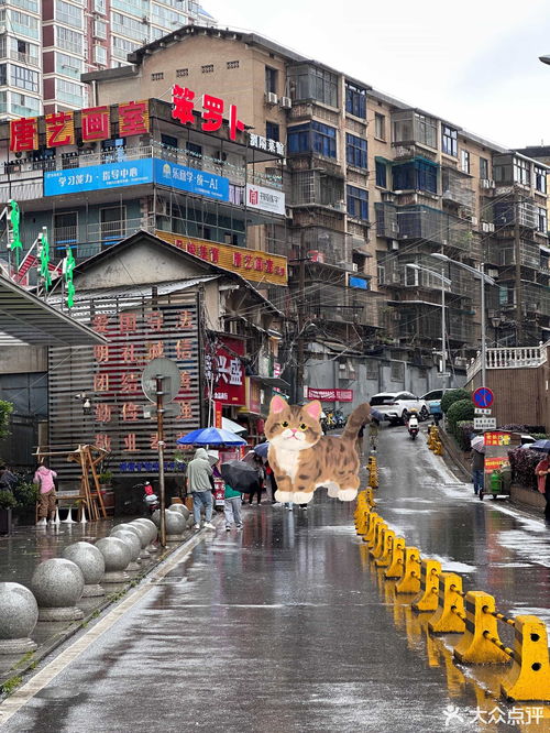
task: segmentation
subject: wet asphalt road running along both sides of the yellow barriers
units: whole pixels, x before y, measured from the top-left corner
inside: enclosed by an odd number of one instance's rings
[[[378,512],[409,545],[502,611],[550,621],[542,521],[482,504],[403,428],[383,430],[378,459]],[[248,508],[242,534],[205,539],[2,733],[550,731],[475,722],[497,705],[476,681],[493,672],[451,664],[429,614],[377,577],[353,505],[318,494],[307,513]]]

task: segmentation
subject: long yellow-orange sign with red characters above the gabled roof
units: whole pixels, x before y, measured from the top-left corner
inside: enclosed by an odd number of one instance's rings
[[[246,280],[274,285],[288,284],[287,261],[279,254],[248,250],[231,244],[218,244],[204,239],[189,239],[168,231],[156,231],[155,234],[189,254],[237,272]]]

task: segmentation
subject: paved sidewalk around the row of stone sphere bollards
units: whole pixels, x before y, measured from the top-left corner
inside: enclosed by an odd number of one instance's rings
[[[94,543],[107,537],[112,527],[134,517],[117,517],[88,522],[87,524],[61,524],[47,527],[16,527],[11,535],[0,537],[0,582],[18,582],[29,586],[36,567],[44,560],[62,557],[67,545],[77,541]],[[183,543],[197,533],[187,529]],[[63,644],[79,628],[87,625],[90,619],[117,601],[130,588],[135,586],[155,566],[170,555],[182,543],[170,544],[165,550],[156,553],[151,560],[143,559],[142,568],[129,572],[130,580],[124,583],[109,583],[105,586],[106,594],[96,598],[84,598],[78,608],[84,611],[84,619],[76,622],[43,622],[38,621],[32,638],[38,645],[33,653],[25,655],[0,655],[0,697],[2,687],[10,680],[21,677],[26,670],[34,668],[37,661]]]

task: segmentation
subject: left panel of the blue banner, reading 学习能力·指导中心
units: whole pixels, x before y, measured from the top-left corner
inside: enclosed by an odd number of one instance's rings
[[[153,160],[119,161],[44,173],[44,196],[138,186],[153,182]]]

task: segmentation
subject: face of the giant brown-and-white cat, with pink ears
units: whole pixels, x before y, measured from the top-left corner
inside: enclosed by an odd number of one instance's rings
[[[288,405],[283,397],[273,397],[270,416],[265,423],[265,437],[275,448],[305,450],[311,448],[322,436],[319,417],[321,403]]]

